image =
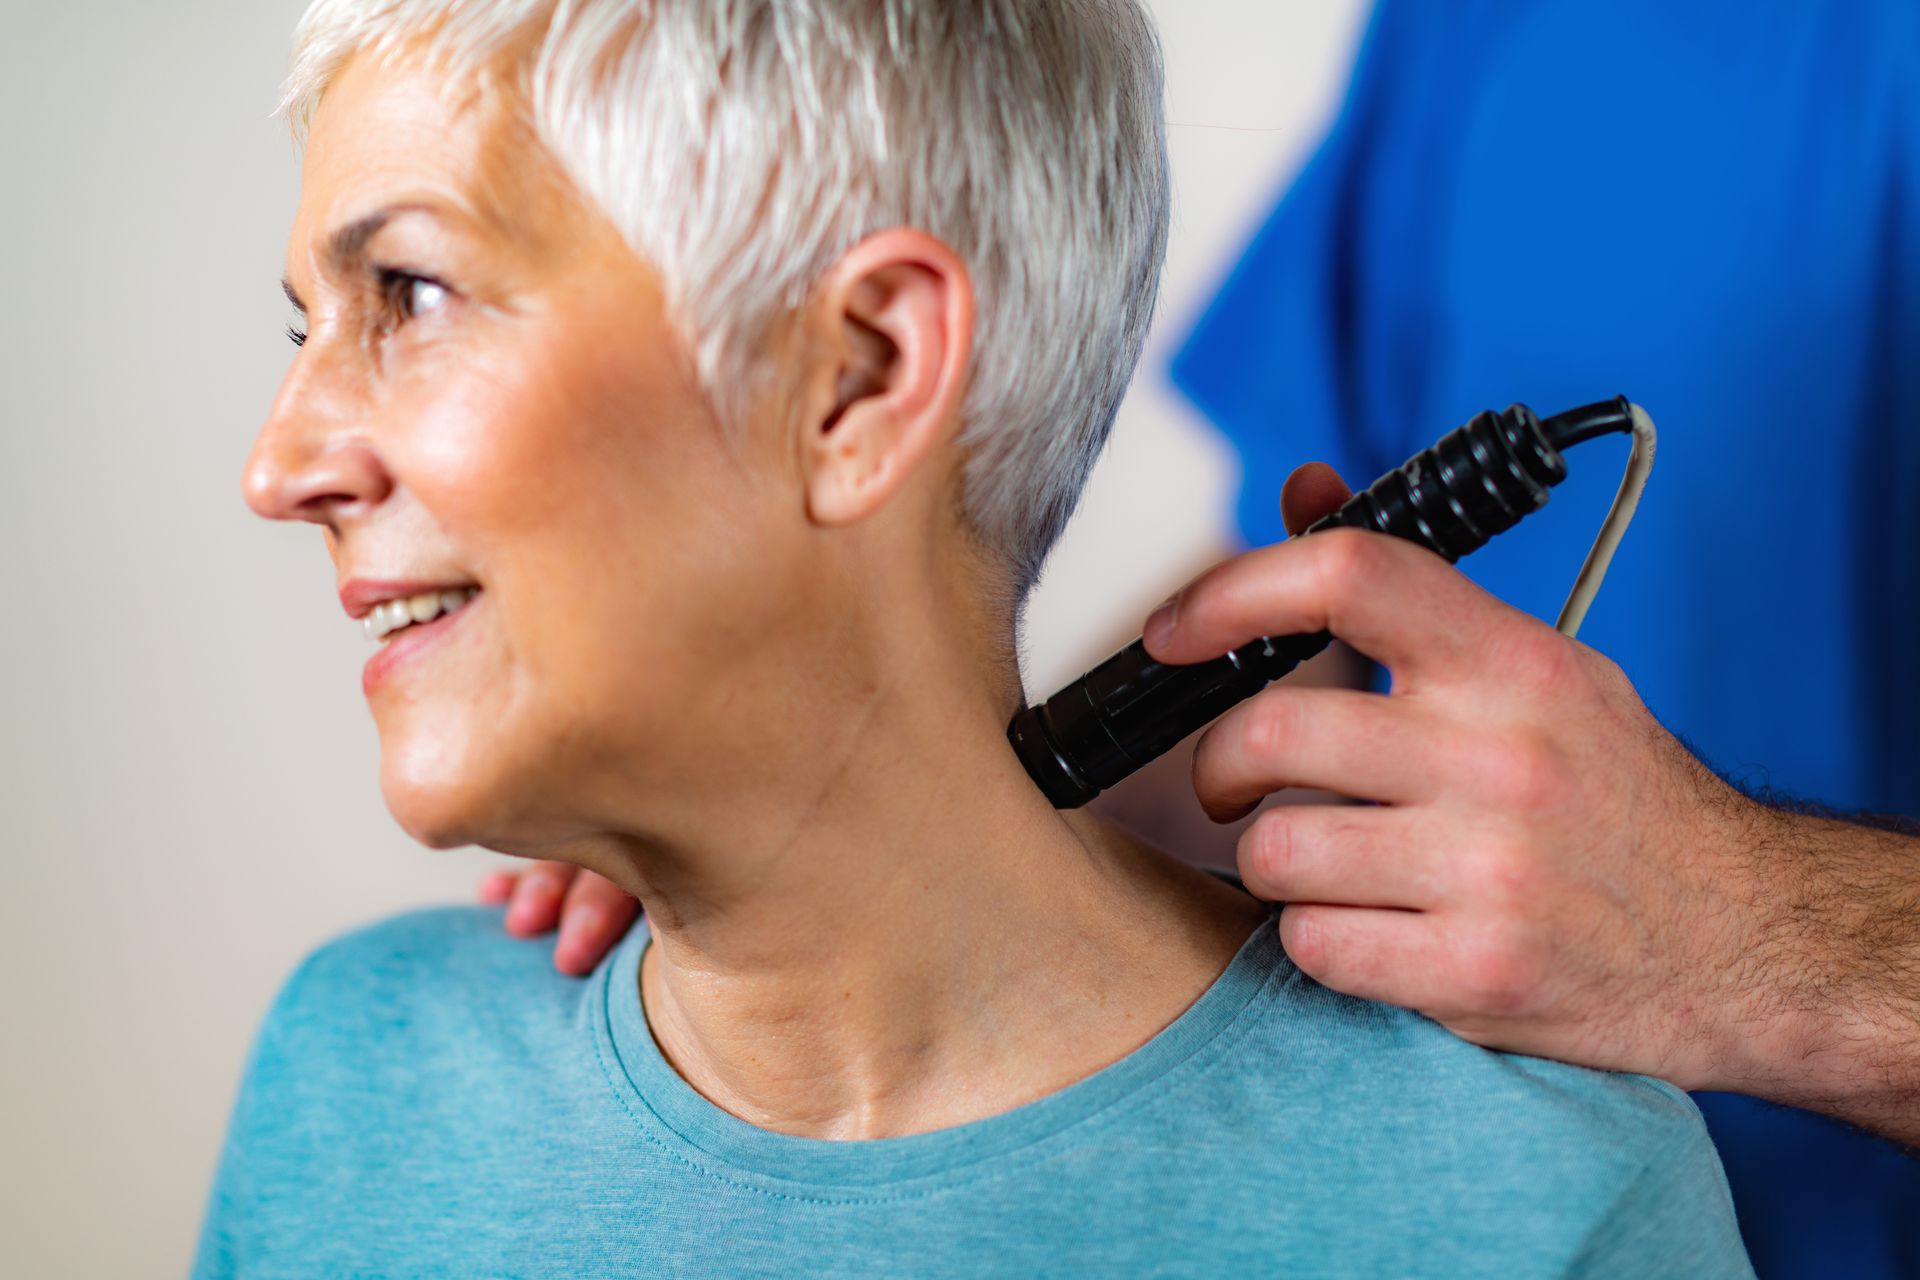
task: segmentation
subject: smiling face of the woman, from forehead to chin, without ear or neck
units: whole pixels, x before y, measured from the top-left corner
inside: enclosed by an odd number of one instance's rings
[[[545,852],[737,756],[808,537],[778,436],[720,430],[657,276],[503,121],[417,65],[336,79],[246,495],[323,528],[355,616],[478,587],[367,666],[382,789],[426,844]]]

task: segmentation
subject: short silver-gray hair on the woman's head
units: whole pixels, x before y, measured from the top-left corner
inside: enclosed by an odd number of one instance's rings
[[[849,248],[889,226],[952,248],[979,313],[966,522],[1025,595],[1160,290],[1164,81],[1139,0],[315,0],[296,132],[349,58],[411,42],[455,79],[516,59],[536,134],[660,271],[724,420]]]

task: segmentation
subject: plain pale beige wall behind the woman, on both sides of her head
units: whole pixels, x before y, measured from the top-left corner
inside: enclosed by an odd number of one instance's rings
[[[240,501],[288,361],[298,0],[0,0],[0,1274],[184,1272],[294,961],[493,858],[380,806],[365,641]],[[1227,539],[1167,344],[1336,106],[1359,0],[1158,0],[1177,223],[1158,345],[1029,620],[1077,674]]]

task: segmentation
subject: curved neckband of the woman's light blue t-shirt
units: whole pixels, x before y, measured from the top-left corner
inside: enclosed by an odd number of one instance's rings
[[[620,1105],[649,1140],[716,1178],[833,1199],[931,1192],[972,1176],[989,1161],[1044,1153],[1066,1130],[1110,1123],[1165,1092],[1148,1088],[1156,1080],[1198,1073],[1225,1054],[1252,1025],[1256,996],[1292,971],[1269,912],[1185,1013],[1094,1075],[968,1125],[906,1138],[829,1142],[758,1128],[703,1098],[672,1069],[639,1002],[639,960],[647,942],[641,921],[601,963],[589,986],[595,1052]]]

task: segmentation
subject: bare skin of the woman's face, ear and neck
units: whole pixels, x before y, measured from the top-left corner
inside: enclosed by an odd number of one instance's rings
[[[724,426],[515,106],[405,52],[330,86],[288,244],[309,338],[246,468],[342,583],[482,589],[369,693],[388,808],[597,873],[609,919],[645,902],[655,1040],[766,1128],[943,1128],[1139,1048],[1265,908],[1056,814],[1006,748],[1012,618],[956,514],[966,265],[852,248]]]

